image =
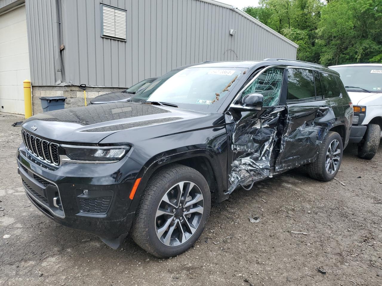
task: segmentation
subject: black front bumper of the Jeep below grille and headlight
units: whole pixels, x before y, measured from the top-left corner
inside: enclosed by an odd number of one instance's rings
[[[116,241],[125,238],[134,219],[129,193],[142,165],[124,157],[110,164],[55,168],[31,156],[24,145],[17,161],[26,195],[41,212],[66,227],[97,235],[113,248],[119,246]]]

